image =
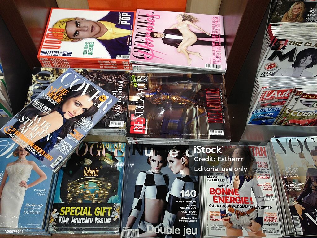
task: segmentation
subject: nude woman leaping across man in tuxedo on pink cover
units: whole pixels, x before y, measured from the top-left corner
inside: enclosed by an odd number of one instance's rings
[[[187,50],[188,46],[191,46],[197,41],[197,36],[194,32],[191,31],[190,26],[204,32],[208,36],[210,36],[210,33],[195,25],[194,23],[198,22],[199,20],[197,17],[194,17],[192,15],[180,13],[176,16],[176,20],[178,21],[178,23],[172,25],[170,29],[177,28],[183,35],[183,40],[178,45],[177,52],[183,53],[187,59],[187,65],[191,65],[191,58],[189,57],[189,54],[196,55],[201,59],[203,59],[203,57],[200,55],[199,52],[192,52]]]

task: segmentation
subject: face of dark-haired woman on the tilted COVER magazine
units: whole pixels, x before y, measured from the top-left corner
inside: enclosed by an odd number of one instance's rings
[[[62,112],[65,112],[65,119],[78,116],[87,111],[93,104],[89,102],[88,95],[69,98],[61,107]]]

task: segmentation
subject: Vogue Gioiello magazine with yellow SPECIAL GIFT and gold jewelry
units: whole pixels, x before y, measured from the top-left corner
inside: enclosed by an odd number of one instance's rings
[[[52,232],[119,234],[126,143],[83,142],[58,174]]]

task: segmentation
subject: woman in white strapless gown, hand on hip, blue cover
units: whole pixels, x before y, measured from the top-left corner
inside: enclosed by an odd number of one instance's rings
[[[18,157],[14,162],[8,163],[0,185],[0,227],[17,228],[20,210],[23,204],[25,190],[44,181],[47,176],[34,161],[29,161],[29,155],[18,146],[13,156]],[[27,183],[32,169],[40,176],[37,180]],[[9,181],[6,182],[9,176]]]

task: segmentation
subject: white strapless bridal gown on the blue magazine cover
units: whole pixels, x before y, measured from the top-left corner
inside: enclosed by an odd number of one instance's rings
[[[19,163],[6,168],[9,181],[4,185],[0,202],[0,227],[17,228],[26,188],[21,181],[28,181],[33,166]]]

